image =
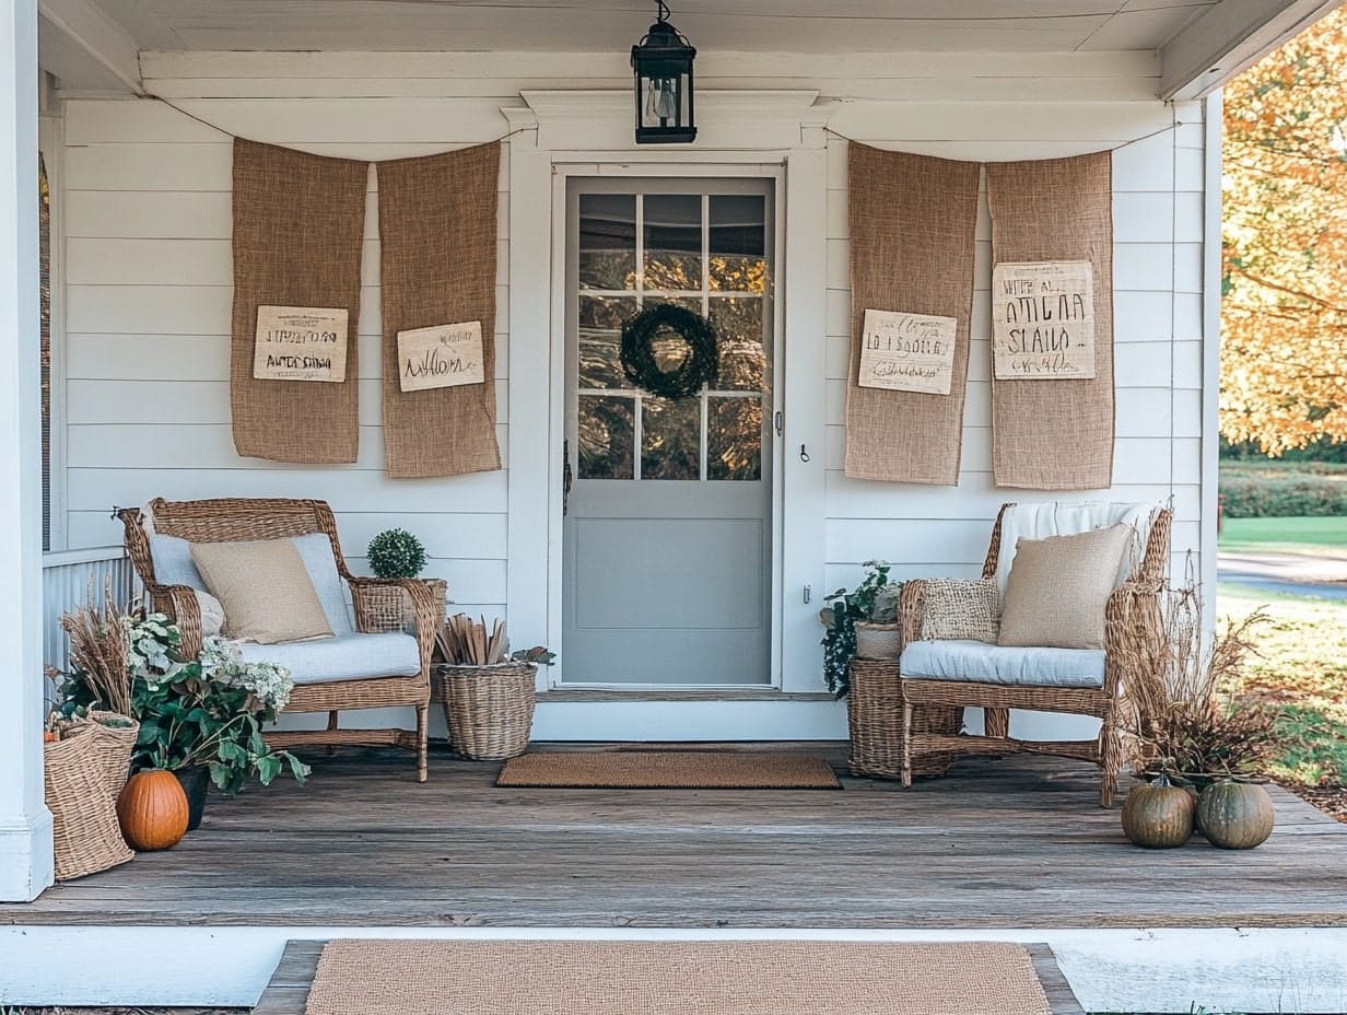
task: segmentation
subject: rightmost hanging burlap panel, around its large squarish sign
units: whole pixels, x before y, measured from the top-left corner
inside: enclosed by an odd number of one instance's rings
[[[1113,484],[1113,155],[987,163],[991,260],[1090,262],[1095,376],[993,380],[991,470],[998,487]],[[995,294],[993,294],[995,299]]]

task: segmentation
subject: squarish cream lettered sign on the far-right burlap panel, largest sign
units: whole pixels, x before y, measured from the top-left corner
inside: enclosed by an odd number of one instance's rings
[[[991,360],[997,380],[1094,377],[1090,262],[997,264],[991,270]]]

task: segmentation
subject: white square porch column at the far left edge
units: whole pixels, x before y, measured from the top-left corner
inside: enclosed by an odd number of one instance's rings
[[[51,884],[42,802],[38,4],[0,8],[0,900]]]

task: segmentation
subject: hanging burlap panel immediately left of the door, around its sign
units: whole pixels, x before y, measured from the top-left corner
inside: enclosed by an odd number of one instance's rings
[[[384,449],[393,479],[501,466],[496,445],[496,202],[500,143],[379,163]],[[480,321],[486,380],[399,386],[397,333]]]

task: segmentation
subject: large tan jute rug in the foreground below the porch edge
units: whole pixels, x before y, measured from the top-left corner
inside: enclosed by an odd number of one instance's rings
[[[330,941],[307,1015],[1052,1015],[1008,942]]]

